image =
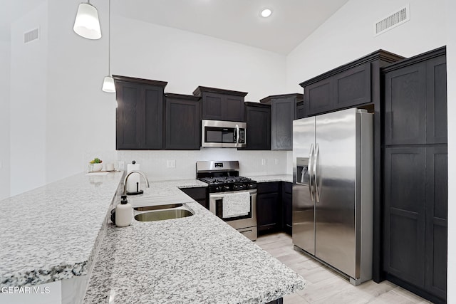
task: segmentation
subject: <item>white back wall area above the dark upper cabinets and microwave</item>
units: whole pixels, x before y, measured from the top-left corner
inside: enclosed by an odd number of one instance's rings
[[[285,93],[285,56],[120,16],[111,34],[113,74],[167,81],[165,92],[203,85],[247,92],[248,101]]]

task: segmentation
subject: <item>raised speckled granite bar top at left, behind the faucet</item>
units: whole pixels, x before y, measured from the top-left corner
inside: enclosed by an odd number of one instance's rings
[[[122,174],[81,173],[0,201],[0,287],[86,274]]]

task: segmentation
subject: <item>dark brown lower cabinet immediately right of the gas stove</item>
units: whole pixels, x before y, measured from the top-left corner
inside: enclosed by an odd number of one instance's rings
[[[281,230],[281,182],[257,184],[257,229],[259,234]]]

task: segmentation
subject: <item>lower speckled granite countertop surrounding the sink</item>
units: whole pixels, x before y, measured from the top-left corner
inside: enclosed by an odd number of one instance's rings
[[[108,224],[83,303],[267,303],[303,289],[301,276],[178,189],[203,184],[152,182],[129,196],[133,206],[181,202],[195,215]]]

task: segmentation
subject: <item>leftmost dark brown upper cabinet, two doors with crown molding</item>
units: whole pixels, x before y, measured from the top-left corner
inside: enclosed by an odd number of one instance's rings
[[[115,80],[116,150],[163,148],[165,81],[113,75]]]

